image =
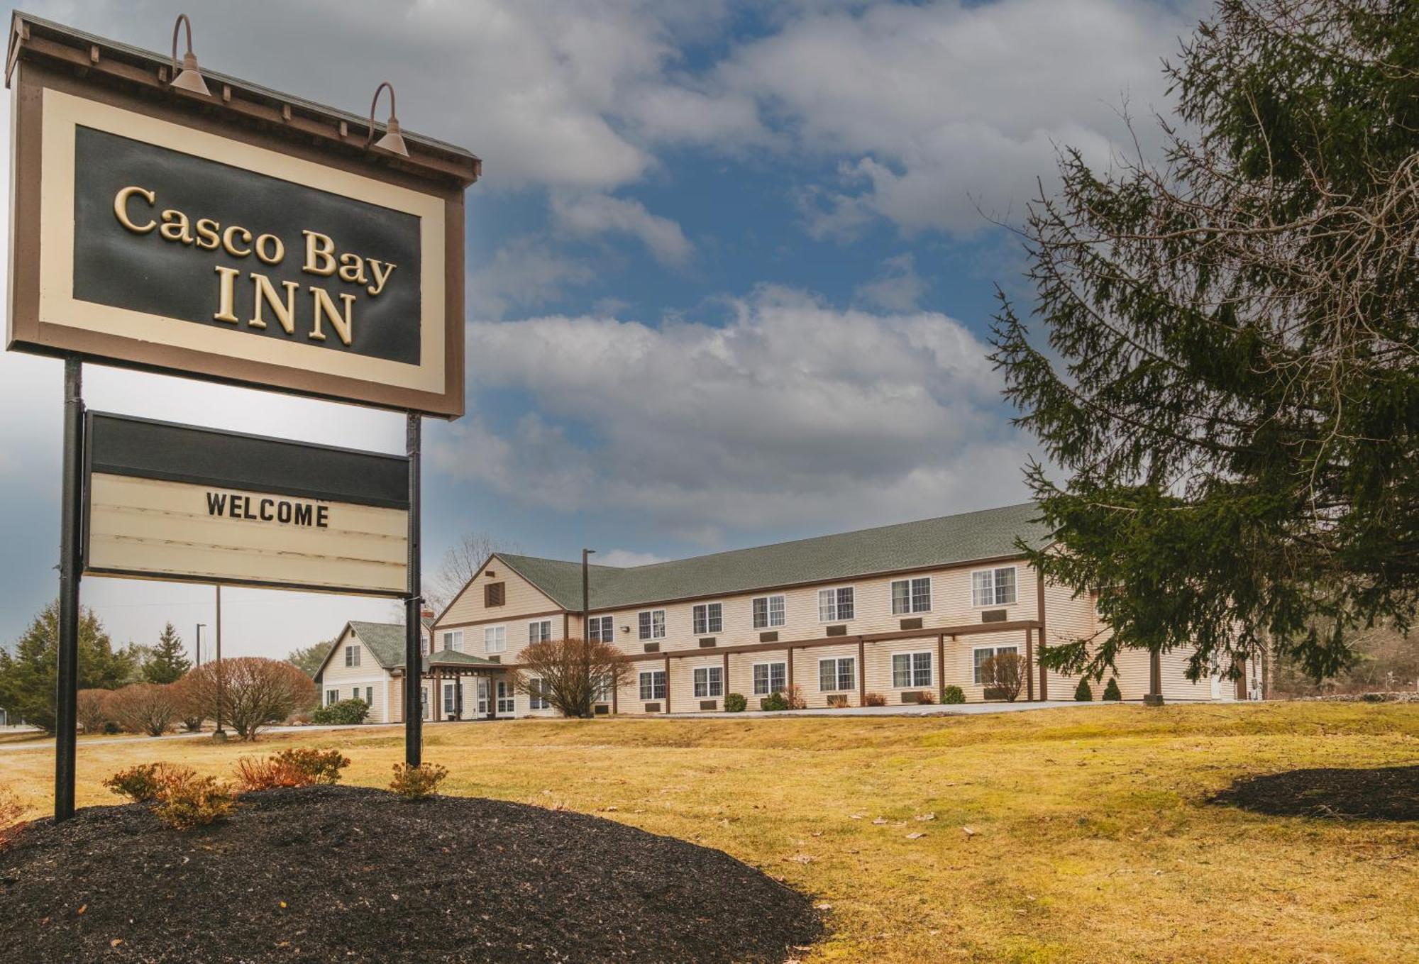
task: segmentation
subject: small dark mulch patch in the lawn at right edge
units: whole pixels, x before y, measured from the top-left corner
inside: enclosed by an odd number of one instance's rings
[[[1237,780],[1213,801],[1279,817],[1419,819],[1419,766],[1287,770]]]

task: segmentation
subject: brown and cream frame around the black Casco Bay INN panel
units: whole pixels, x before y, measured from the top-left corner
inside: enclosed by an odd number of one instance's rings
[[[7,347],[404,413],[460,417],[464,411],[464,191],[480,176],[481,162],[460,147],[407,132],[409,157],[366,149],[368,120],[211,71],[204,71],[214,91],[211,96],[176,89],[163,82],[166,60],[16,14],[6,77],[14,111]],[[438,299],[443,325],[437,332],[443,364],[441,371],[434,373],[441,374],[441,387],[409,387],[407,380],[402,386],[390,384],[375,376],[352,377],[308,364],[243,357],[230,349],[160,343],[92,326],[78,327],[53,313],[45,318],[41,298],[54,295],[41,291],[47,281],[41,275],[44,169],[54,164],[44,152],[47,91],[94,102],[101,109],[150,118],[158,125],[176,125],[206,139],[207,145],[220,138],[230,142],[234,152],[281,156],[291,160],[292,169],[319,166],[329,170],[333,180],[412,191],[441,207],[443,231],[437,240],[444,264],[433,268],[443,288]],[[159,91],[162,96],[153,96]],[[307,186],[311,184],[307,181]],[[343,194],[341,190],[332,193]],[[44,213],[54,217],[54,211]],[[72,254],[51,251],[47,257],[71,258]],[[427,278],[430,271],[423,274]],[[233,332],[220,335],[234,336]],[[245,337],[255,340],[258,336]],[[348,357],[315,347],[311,352],[328,353],[332,360]]]

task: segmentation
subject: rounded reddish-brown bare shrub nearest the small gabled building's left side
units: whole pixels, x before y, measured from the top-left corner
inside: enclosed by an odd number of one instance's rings
[[[190,688],[186,696],[196,707],[187,713],[217,716],[217,669],[219,663],[210,662],[183,676],[184,686]],[[280,723],[315,702],[315,683],[288,662],[238,656],[223,659],[220,669],[221,716],[243,740],[255,740],[263,726]]]

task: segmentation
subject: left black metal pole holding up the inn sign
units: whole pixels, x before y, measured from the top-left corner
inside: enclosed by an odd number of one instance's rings
[[[78,729],[79,573],[84,485],[84,369],[64,360],[64,475],[60,505],[60,639],[54,693],[54,819],[74,817]]]

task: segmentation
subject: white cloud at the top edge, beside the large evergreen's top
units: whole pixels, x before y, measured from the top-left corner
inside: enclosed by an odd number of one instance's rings
[[[809,7],[735,48],[724,96],[752,96],[800,149],[843,159],[816,186],[809,230],[851,237],[874,217],[971,232],[1017,214],[1056,145],[1107,163],[1124,98],[1161,103],[1159,58],[1203,0],[1174,11],[1125,0]],[[979,210],[978,210],[979,208]]]

